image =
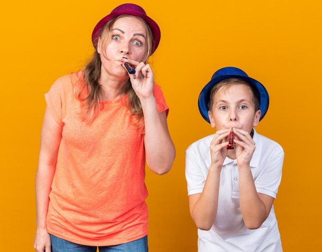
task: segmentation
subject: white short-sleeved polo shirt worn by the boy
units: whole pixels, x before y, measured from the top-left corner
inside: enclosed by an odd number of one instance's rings
[[[188,195],[201,193],[210,167],[210,142],[213,134],[191,144],[186,150]],[[251,170],[257,192],[276,198],[281,181],[282,147],[254,129],[256,149]],[[239,203],[237,161],[226,158],[220,175],[218,211],[210,230],[198,229],[198,251],[282,251],[277,220],[272,206],[269,217],[258,229],[247,229]]]

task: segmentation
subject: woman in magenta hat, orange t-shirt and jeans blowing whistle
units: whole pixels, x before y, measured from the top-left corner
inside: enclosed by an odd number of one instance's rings
[[[36,251],[148,251],[145,163],[162,175],[175,158],[147,64],[159,40],[141,7],[120,5],[94,28],[92,60],[45,94]]]

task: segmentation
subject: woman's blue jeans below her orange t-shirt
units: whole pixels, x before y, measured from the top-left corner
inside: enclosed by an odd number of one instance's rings
[[[51,252],[96,252],[96,246],[80,245],[68,242],[56,236],[50,235]],[[114,246],[98,247],[100,252],[148,252],[148,236],[133,242],[127,242]]]

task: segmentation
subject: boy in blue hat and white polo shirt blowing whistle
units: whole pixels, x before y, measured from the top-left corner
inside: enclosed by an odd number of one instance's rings
[[[273,201],[284,152],[254,129],[269,107],[267,90],[241,69],[225,67],[212,75],[198,105],[217,130],[186,151],[198,251],[282,251]],[[231,131],[234,149],[228,150]]]

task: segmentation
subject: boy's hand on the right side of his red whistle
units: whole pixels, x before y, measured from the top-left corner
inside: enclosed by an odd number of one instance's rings
[[[255,142],[249,132],[234,128],[236,143],[236,159],[239,168],[249,167],[255,151]]]

